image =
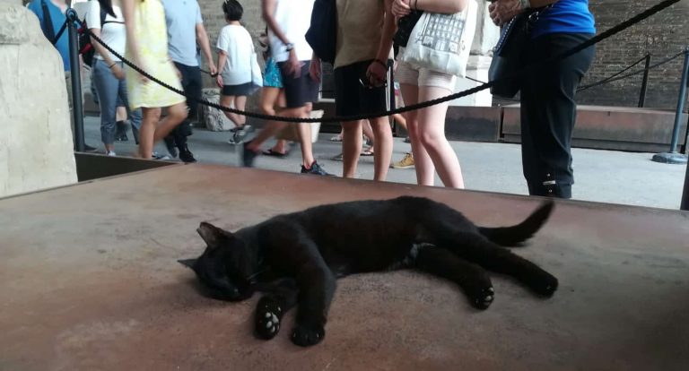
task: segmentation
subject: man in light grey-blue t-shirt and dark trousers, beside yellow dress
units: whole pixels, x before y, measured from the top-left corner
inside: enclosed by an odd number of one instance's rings
[[[165,8],[165,23],[168,30],[168,48],[172,62],[182,74],[182,88],[184,92],[197,99],[201,98],[203,82],[201,80],[201,67],[196,58],[196,45],[201,48],[208,62],[208,69],[215,76],[217,68],[211,55],[211,45],[205,32],[204,20],[201,17],[201,8],[196,0],[161,0]],[[188,102],[188,117],[196,117],[198,104],[196,101]],[[184,162],[196,162],[194,154],[189,151],[187,137],[191,135],[191,123],[186,118],[181,125],[175,128],[166,139],[179,150],[179,160]],[[170,145],[168,145],[170,148]],[[171,151],[172,152],[172,151]],[[171,153],[174,155],[174,153]]]

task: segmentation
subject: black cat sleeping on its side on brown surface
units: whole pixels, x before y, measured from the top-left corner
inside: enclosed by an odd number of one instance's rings
[[[299,305],[292,342],[325,336],[336,278],[360,272],[413,268],[456,282],[472,306],[493,302],[484,268],[509,274],[537,294],[553,295],[557,279],[501,246],[518,246],[543,226],[548,201],[519,225],[476,227],[449,206],[417,197],[357,201],[278,215],[235,233],[203,222],[196,229],[207,247],[197,259],[179,261],[196,272],[211,298],[240,301],[255,291],[255,330],[272,339],[283,315]],[[484,267],[484,268],[482,268]]]

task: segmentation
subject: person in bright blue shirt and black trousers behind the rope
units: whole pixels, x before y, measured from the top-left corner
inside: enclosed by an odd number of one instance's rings
[[[488,9],[493,22],[502,25],[528,8],[546,5],[531,27],[524,53],[527,65],[558,56],[596,34],[589,0],[497,0]],[[595,47],[586,48],[521,79],[521,162],[528,194],[571,198],[574,98],[595,54]]]

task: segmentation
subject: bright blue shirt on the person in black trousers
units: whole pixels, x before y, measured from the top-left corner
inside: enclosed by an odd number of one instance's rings
[[[532,37],[548,33],[596,33],[589,0],[560,0],[540,13]]]

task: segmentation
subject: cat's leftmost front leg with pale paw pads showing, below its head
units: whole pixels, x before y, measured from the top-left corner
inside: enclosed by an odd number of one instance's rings
[[[266,295],[258,300],[254,317],[254,333],[257,338],[270,340],[280,332],[283,315],[297,304],[297,283],[292,279],[274,282]]]

